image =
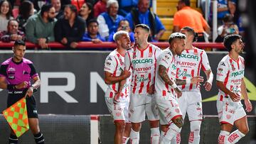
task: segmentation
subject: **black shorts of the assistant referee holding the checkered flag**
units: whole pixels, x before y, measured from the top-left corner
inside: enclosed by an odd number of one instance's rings
[[[15,104],[18,100],[22,99],[26,94],[26,89],[22,91],[9,92],[7,98],[7,108]],[[28,112],[28,118],[38,118],[38,113],[36,110],[36,99],[32,95],[26,98],[26,106]]]

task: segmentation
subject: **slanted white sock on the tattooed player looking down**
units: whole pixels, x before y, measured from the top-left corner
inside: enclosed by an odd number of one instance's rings
[[[173,139],[176,136],[176,133],[180,133],[180,132],[181,132],[181,128],[178,128],[176,124],[171,123],[171,125],[167,128],[166,133],[161,131],[160,144],[171,143],[171,139]]]

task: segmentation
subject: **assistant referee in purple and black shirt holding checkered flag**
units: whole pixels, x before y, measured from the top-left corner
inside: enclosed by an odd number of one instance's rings
[[[36,143],[44,143],[39,128],[34,89],[40,87],[40,79],[33,62],[24,58],[26,45],[23,40],[16,40],[12,48],[14,56],[4,61],[0,67],[0,88],[8,90],[7,107],[26,96],[28,124]],[[31,84],[31,79],[33,84]],[[11,130],[9,143],[18,143],[14,131]]]

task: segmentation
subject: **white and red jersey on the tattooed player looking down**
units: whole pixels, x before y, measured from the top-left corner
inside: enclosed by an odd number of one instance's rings
[[[175,82],[176,79],[176,62],[175,57],[169,48],[166,48],[161,52],[156,61],[156,96],[174,96],[174,89],[159,75],[159,65],[166,67],[169,78]]]

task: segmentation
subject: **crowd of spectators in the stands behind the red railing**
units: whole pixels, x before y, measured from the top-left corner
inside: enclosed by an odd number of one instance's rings
[[[222,43],[225,35],[243,34],[236,3],[218,0],[215,42]],[[80,41],[113,42],[114,33],[122,30],[134,43],[134,26],[144,23],[151,28],[149,41],[158,42],[166,29],[150,7],[151,0],[0,0],[0,40],[9,43],[22,39],[41,48],[59,42],[76,48]],[[190,26],[198,33],[198,42],[208,42],[211,18],[206,21],[202,13],[190,7],[189,0],[179,0],[177,10],[173,31]]]

